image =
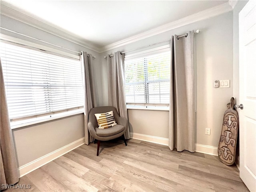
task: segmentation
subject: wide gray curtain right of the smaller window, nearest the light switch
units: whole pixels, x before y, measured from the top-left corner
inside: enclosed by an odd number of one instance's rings
[[[194,152],[194,32],[171,38],[169,148]]]

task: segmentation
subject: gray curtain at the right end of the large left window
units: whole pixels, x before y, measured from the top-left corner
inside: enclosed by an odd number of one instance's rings
[[[84,142],[86,145],[94,141],[88,130],[88,116],[91,108],[94,107],[93,96],[92,96],[92,84],[90,82],[90,66],[91,66],[92,55],[87,56],[86,52],[82,52],[80,60],[82,62],[82,74],[84,84]]]

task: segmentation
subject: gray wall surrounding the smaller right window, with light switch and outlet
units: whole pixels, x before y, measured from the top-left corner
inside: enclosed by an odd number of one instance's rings
[[[233,96],[233,13],[228,12],[213,18],[195,22],[180,28],[140,40],[101,54],[101,57],[116,51],[127,51],[170,39],[173,34],[184,34],[199,29],[195,35],[197,65],[197,127],[196,143],[218,146],[222,118],[226,104]],[[106,60],[102,60],[106,71]],[[105,79],[104,79],[105,78]],[[230,80],[230,88],[214,88],[214,80]],[[107,95],[107,78],[102,78],[103,94]],[[104,104],[107,104],[107,98]],[[132,132],[168,138],[168,112],[128,110]],[[156,117],[157,116],[157,120]],[[139,117],[139,118],[138,118]],[[160,124],[149,124],[157,121]],[[211,135],[205,135],[211,128]]]

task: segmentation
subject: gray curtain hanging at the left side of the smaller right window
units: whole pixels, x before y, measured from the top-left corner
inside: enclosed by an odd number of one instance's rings
[[[108,55],[108,105],[114,106],[120,117],[128,119],[125,101],[124,54],[115,52],[111,58]],[[124,134],[130,139],[129,127]]]

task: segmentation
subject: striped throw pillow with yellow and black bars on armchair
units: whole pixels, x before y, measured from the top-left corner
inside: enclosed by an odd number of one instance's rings
[[[106,129],[116,125],[113,111],[106,113],[96,113],[94,115],[96,116],[100,129]]]

